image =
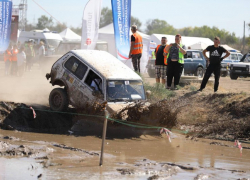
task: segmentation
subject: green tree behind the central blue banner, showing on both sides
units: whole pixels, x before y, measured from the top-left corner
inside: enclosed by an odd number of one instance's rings
[[[108,7],[102,8],[99,27],[102,28],[102,27],[107,26],[111,23],[113,23],[112,10],[109,9]],[[139,30],[140,30],[140,27],[142,25],[141,21],[138,18],[133,17],[133,16],[131,16],[131,23],[130,24],[131,25],[135,24]]]

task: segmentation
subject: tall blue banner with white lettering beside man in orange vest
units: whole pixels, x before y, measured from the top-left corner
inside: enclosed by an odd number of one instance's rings
[[[131,0],[111,0],[117,58],[127,60],[130,50]]]

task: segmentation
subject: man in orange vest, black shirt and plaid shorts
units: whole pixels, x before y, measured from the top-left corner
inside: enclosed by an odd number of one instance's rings
[[[162,37],[161,38],[161,44],[159,44],[156,49],[155,49],[155,76],[156,76],[156,83],[160,83],[160,78],[161,78],[161,83],[165,85],[165,77],[167,73],[167,66],[164,64],[165,58],[167,55],[163,55],[164,49],[167,45],[167,38]]]

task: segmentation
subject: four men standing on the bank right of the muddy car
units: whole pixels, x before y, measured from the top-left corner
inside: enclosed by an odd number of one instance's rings
[[[134,70],[140,73],[140,58],[142,55],[143,43],[142,37],[137,33],[136,25],[131,27],[131,46],[129,58],[132,58]],[[209,57],[206,56],[209,52]],[[225,53],[224,57],[222,54]],[[184,69],[184,55],[186,54],[186,47],[182,44],[181,35],[175,35],[175,43],[167,44],[167,37],[162,37],[161,44],[159,44],[153,55],[155,56],[155,76],[156,83],[165,85],[167,80],[166,89],[171,89],[172,81],[174,79],[174,90],[178,90],[181,74]],[[214,38],[214,45],[208,46],[203,55],[206,58],[207,69],[202,80],[200,89],[202,91],[208,82],[211,74],[214,73],[214,92],[217,92],[220,78],[221,61],[230,55],[230,52],[220,46],[220,38]],[[166,78],[167,77],[167,78]],[[166,78],[166,80],[165,80]]]

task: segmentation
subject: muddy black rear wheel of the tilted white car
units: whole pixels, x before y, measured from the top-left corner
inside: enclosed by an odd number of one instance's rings
[[[62,88],[55,88],[49,95],[49,105],[53,111],[65,111],[69,106],[67,91]]]

